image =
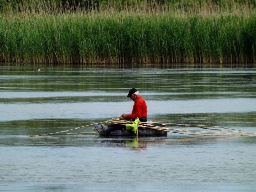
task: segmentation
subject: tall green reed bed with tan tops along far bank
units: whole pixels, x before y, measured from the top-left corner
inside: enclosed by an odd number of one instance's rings
[[[168,1],[163,5],[113,2],[91,7],[89,12],[77,7],[63,13],[56,5],[49,10],[45,5],[3,13],[0,62],[256,62],[253,3],[231,8],[191,3],[188,9],[170,6]]]

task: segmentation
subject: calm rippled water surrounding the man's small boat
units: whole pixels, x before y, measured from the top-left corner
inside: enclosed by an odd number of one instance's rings
[[[255,136],[29,136],[130,113],[132,87],[152,121],[256,133],[256,68],[36,68],[0,66],[0,191],[255,191]]]

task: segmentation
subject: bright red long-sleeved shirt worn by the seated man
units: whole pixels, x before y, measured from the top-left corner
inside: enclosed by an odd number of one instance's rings
[[[141,96],[138,96],[133,105],[133,111],[127,115],[127,119],[136,119],[137,117],[147,117],[146,102]]]

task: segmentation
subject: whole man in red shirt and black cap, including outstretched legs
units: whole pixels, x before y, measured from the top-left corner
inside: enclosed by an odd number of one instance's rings
[[[141,122],[147,121],[147,106],[144,99],[139,95],[139,91],[137,89],[132,88],[129,92],[127,97],[130,97],[134,101],[133,110],[131,114],[122,114],[119,119],[123,120],[132,120],[134,121],[139,118]],[[125,126],[124,126],[125,127]],[[102,130],[105,132],[106,135],[108,135],[111,131],[118,130],[124,128],[120,125],[101,125]]]

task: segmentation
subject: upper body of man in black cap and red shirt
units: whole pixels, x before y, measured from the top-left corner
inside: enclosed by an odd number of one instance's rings
[[[134,101],[133,110],[131,114],[122,114],[119,119],[135,120],[137,117],[141,122],[147,121],[147,106],[144,99],[139,95],[137,89],[132,88],[127,97],[130,97]]]

